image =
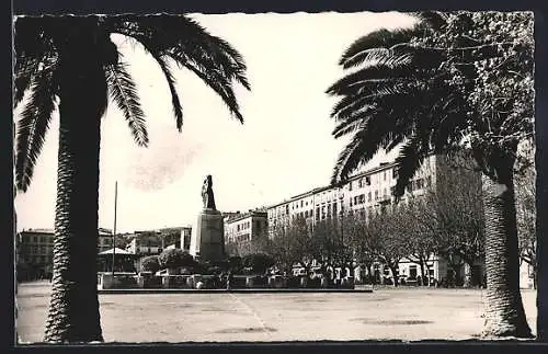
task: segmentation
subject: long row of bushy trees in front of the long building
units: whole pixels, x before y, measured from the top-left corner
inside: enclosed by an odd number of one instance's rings
[[[454,158],[445,162],[437,165],[436,183],[421,195],[410,193],[404,202],[370,209],[368,215],[344,213],[315,225],[297,217],[287,225],[273,227],[270,238],[229,243],[227,250],[240,255],[270,254],[276,265],[288,273],[295,264],[309,273],[312,260],[323,267],[353,269],[359,264],[368,274],[375,273],[375,263],[381,263],[390,270],[395,285],[400,261],[407,259],[418,264],[421,279],[426,279],[431,274],[430,261],[436,255],[447,261],[453,274],[461,274],[467,265],[470,273],[464,277],[464,285],[479,285],[470,282],[481,279],[473,274],[475,264],[484,260],[481,180],[470,161]],[[520,218],[522,259],[529,264],[536,261],[532,171],[529,167],[520,174],[521,193],[516,197],[523,215]]]

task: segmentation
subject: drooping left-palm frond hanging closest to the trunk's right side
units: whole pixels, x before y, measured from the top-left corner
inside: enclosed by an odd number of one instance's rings
[[[106,82],[113,101],[117,104],[129,125],[132,135],[139,146],[148,146],[145,114],[132,76],[123,62],[106,67]]]

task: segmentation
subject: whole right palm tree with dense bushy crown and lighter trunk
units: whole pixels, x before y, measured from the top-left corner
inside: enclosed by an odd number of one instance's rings
[[[487,308],[483,334],[530,336],[518,287],[513,168],[533,135],[533,21],[527,13],[419,13],[411,28],[373,32],[328,89],[342,99],[335,138],[354,133],[333,183],[379,150],[401,147],[396,196],[430,153],[470,152],[482,171]]]

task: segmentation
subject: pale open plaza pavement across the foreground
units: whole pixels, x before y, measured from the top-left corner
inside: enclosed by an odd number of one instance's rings
[[[536,292],[523,290],[536,328]],[[381,288],[374,293],[102,294],[105,342],[467,340],[481,332],[483,290]],[[19,285],[22,343],[39,342],[48,283]]]

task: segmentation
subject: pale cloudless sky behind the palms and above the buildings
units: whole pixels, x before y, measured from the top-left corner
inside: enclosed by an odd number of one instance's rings
[[[191,16],[243,56],[251,91],[238,87],[236,94],[244,124],[198,78],[173,66],[184,115],[179,133],[160,68],[114,35],[137,82],[150,142],[134,142],[111,102],[101,127],[100,227],[114,227],[115,181],[118,232],[195,225],[207,174],[222,212],[267,206],[328,185],[344,146],[331,136],[336,98],[324,93],[343,76],[339,58],[358,37],[412,21],[397,12]],[[18,230],[54,227],[57,140],[55,113],[33,182],[15,198]],[[390,158],[380,155],[369,165]]]

